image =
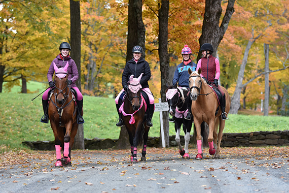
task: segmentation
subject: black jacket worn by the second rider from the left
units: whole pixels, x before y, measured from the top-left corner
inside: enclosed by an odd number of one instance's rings
[[[126,63],[124,71],[122,73],[122,86],[127,85],[127,82],[129,81],[129,77],[131,75],[133,75],[134,78],[138,78],[141,73],[143,73],[143,75],[139,83],[141,84],[142,88],[148,88],[148,81],[151,78],[151,69],[149,63],[142,58],[140,58],[137,63],[135,63],[133,59],[129,60]]]

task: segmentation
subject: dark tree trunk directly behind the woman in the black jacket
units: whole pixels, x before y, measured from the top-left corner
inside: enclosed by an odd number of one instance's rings
[[[132,58],[132,48],[139,45],[143,48],[142,58],[144,59],[146,54],[146,47],[144,42],[146,41],[146,28],[142,22],[142,1],[141,0],[129,0],[128,2],[128,23],[127,23],[127,50],[126,50],[126,62]],[[117,149],[127,149],[130,147],[129,136],[125,126],[121,127],[119,140],[115,146]]]

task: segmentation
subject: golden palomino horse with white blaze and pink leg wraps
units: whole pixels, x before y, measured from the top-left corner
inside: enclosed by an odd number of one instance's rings
[[[192,72],[189,69],[189,85],[191,92],[192,102],[192,114],[194,115],[194,123],[197,131],[197,145],[198,154],[196,159],[202,159],[202,141],[201,141],[201,129],[200,124],[205,121],[209,125],[209,154],[213,155],[214,158],[220,157],[221,141],[223,137],[223,130],[225,127],[225,120],[222,120],[221,106],[218,103],[218,99],[214,94],[212,88],[201,78],[201,69]],[[228,113],[230,110],[231,98],[228,91],[219,85],[219,88],[224,91],[226,96],[226,109],[225,112]],[[213,146],[213,141],[217,143],[217,131],[218,133],[218,147],[217,149]]]

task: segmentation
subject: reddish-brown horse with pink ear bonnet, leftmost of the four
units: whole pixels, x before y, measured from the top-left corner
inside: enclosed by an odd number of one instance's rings
[[[57,68],[54,63],[55,87],[50,95],[50,105],[48,115],[51,128],[54,134],[54,143],[56,150],[55,167],[71,166],[71,148],[74,144],[74,138],[77,133],[78,124],[76,121],[76,104],[75,97],[71,93],[67,80],[68,62],[64,68]],[[52,105],[53,104],[53,105]],[[83,109],[81,110],[83,115]],[[61,158],[61,148],[63,157]]]

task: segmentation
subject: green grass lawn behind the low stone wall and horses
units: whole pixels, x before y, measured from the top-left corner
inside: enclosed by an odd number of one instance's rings
[[[28,84],[29,90],[38,90],[37,93],[22,94],[19,91],[0,93],[0,144],[20,147],[22,141],[51,141],[54,140],[49,124],[41,123],[43,115],[41,96],[35,99],[38,93],[47,88],[46,84]],[[118,139],[120,127],[116,121],[118,114],[115,101],[111,98],[84,96],[84,137]],[[160,136],[159,112],[153,117],[154,127],[149,136]],[[257,115],[230,115],[226,121],[224,133],[246,133],[256,131],[289,130],[289,117],[257,116]],[[174,135],[174,124],[170,123],[170,135]],[[184,132],[181,132],[184,135]]]

